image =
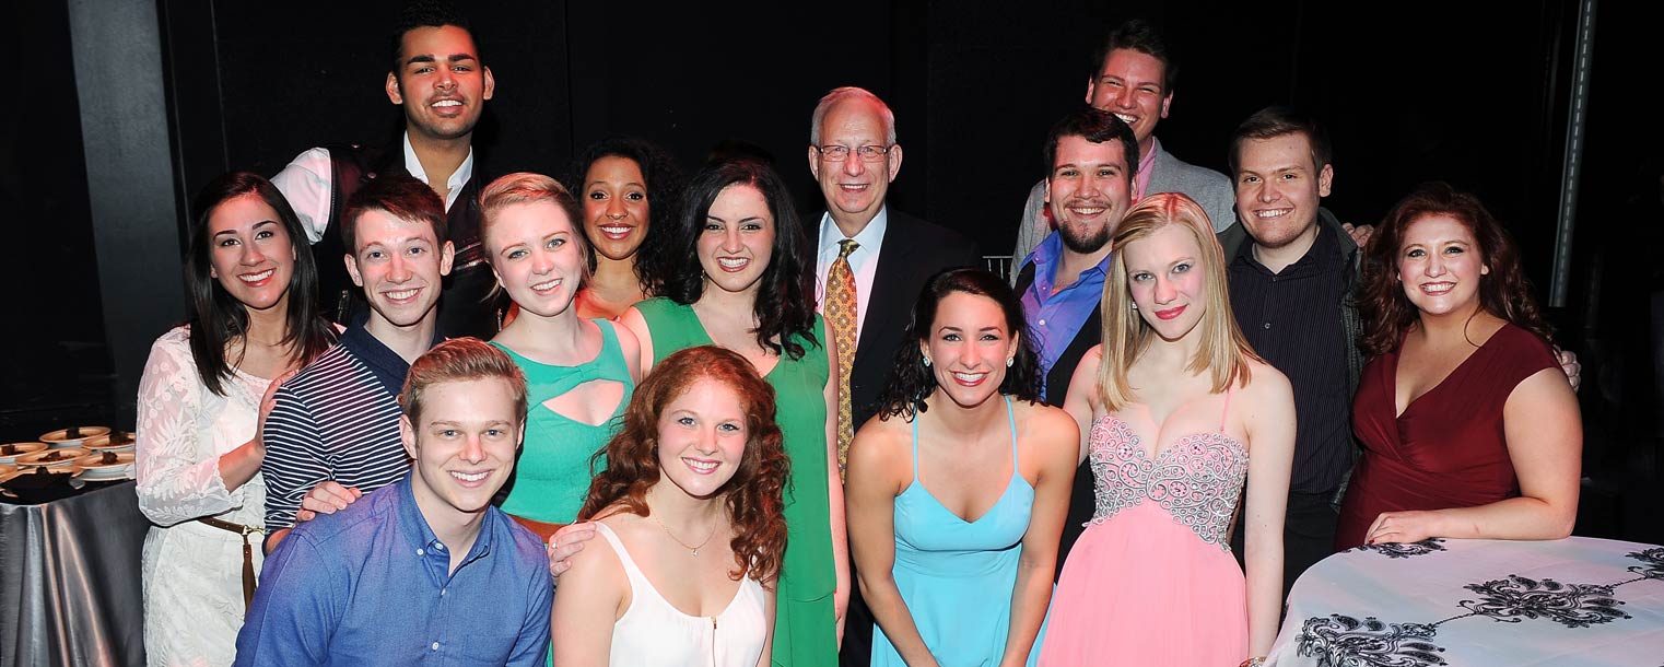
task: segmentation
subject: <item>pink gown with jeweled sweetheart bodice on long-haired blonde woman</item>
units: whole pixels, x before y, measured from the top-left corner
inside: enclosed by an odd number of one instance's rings
[[[1223,432],[1155,461],[1125,422],[1092,426],[1098,509],[1052,595],[1042,667],[1231,667],[1248,655],[1243,571],[1225,537],[1248,452]]]

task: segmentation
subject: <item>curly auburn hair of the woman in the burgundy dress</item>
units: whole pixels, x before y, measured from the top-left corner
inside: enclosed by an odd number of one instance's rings
[[[1399,200],[1364,250],[1363,293],[1358,301],[1358,313],[1364,321],[1359,341],[1363,351],[1379,356],[1398,349],[1404,331],[1421,316],[1396,278],[1398,251],[1409,225],[1433,215],[1449,216],[1473,233],[1479,256],[1491,271],[1479,279],[1479,308],[1553,343],[1554,331],[1543,321],[1543,313],[1531,298],[1531,283],[1508,230],[1503,230],[1478,196],[1451,188],[1449,183],[1433,181]]]

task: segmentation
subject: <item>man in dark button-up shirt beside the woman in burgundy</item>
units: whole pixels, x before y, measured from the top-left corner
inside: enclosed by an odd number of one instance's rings
[[[1315,121],[1270,106],[1231,135],[1236,215],[1220,233],[1236,324],[1295,389],[1295,464],[1283,524],[1283,587],[1335,552],[1335,496],[1351,471],[1351,396],[1363,369],[1361,250],[1320,206],[1335,181]],[[1233,534],[1241,554],[1243,531]]]

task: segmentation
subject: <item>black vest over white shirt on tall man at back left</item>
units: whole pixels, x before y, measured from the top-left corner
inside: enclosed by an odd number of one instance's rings
[[[313,245],[313,256],[318,263],[319,303],[329,308],[326,316],[349,324],[368,314],[363,288],[353,284],[346,274],[343,256],[351,254],[341,240],[341,220],[346,218],[346,201],[364,183],[379,175],[404,175],[404,151],[398,143],[391,146],[358,146],[333,145],[329,150],[329,223],[323,240]],[[446,236],[456,248],[456,259],[451,274],[444,278],[439,296],[439,334],[446,338],[476,336],[489,339],[498,333],[501,309],[493,299],[488,303],[491,286],[496,279],[486,266],[486,251],[479,243],[479,183],[484,175],[476,155],[474,173],[463,183],[456,195],[456,205],[446,215]]]

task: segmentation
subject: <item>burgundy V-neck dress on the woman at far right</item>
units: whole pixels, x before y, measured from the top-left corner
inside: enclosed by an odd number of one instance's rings
[[[1381,512],[1476,507],[1519,496],[1503,404],[1544,368],[1559,368],[1536,334],[1504,324],[1438,386],[1394,416],[1398,351],[1369,361],[1353,398],[1363,459],[1341,504],[1335,549],[1351,549]]]

